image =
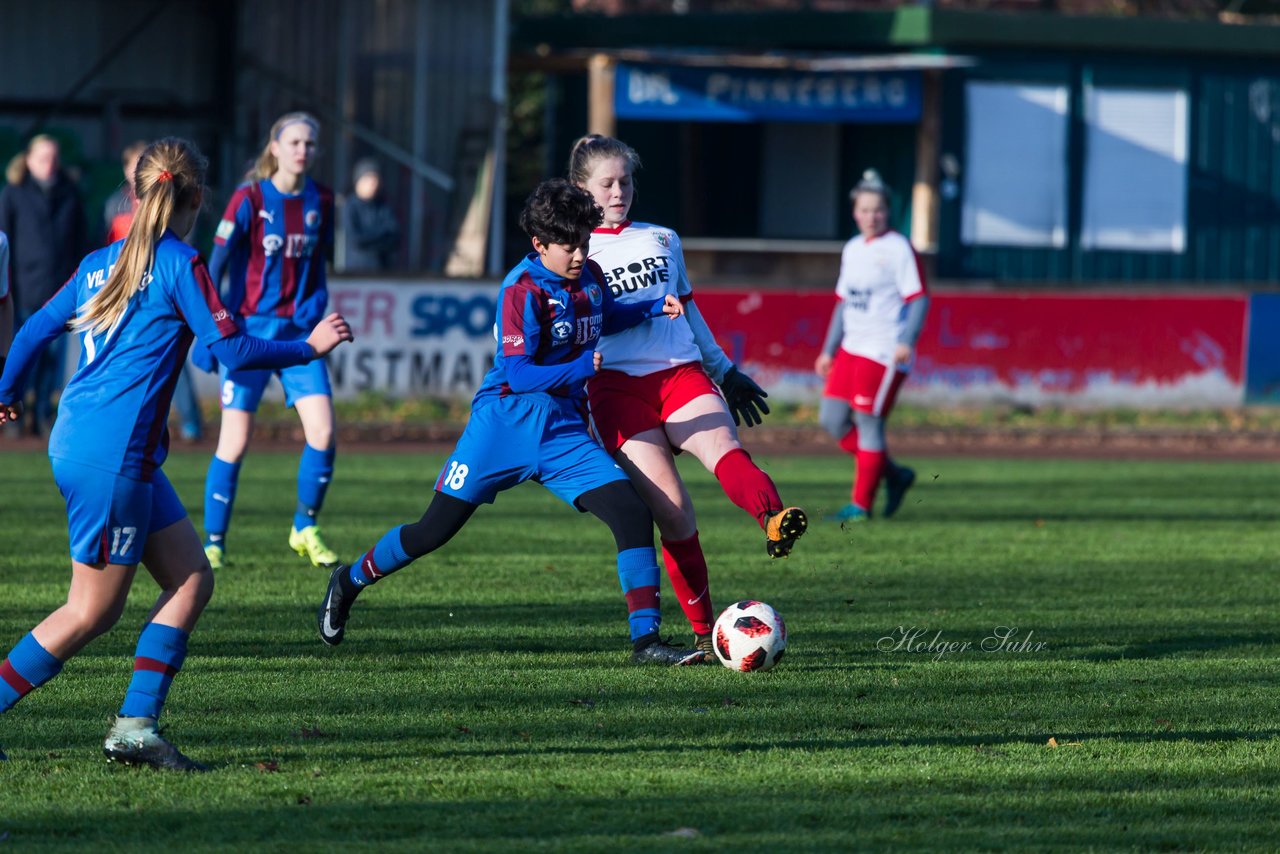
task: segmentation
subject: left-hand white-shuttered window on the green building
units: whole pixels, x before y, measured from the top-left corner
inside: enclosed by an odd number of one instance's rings
[[[1066,86],[970,82],[960,239],[1066,246]]]

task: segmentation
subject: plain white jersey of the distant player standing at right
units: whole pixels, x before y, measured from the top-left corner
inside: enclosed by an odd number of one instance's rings
[[[884,365],[902,330],[902,307],[925,293],[924,274],[910,241],[897,232],[845,243],[836,296],[844,306],[840,346]]]

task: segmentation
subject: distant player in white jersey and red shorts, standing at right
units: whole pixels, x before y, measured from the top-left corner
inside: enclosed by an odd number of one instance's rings
[[[914,471],[890,460],[884,421],[910,370],[929,303],[915,250],[888,230],[888,188],[879,175],[869,170],[850,198],[860,233],[841,254],[840,302],[814,364],[827,380],[818,417],[858,461],[851,502],[831,517],[840,522],[870,519],[882,479],[888,492],[883,515],[892,516],[915,481]]]

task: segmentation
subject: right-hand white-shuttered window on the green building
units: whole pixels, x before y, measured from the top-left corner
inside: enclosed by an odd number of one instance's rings
[[[1085,250],[1187,248],[1187,92],[1088,87]]]

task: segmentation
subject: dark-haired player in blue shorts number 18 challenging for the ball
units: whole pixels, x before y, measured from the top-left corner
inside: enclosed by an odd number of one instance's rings
[[[659,639],[653,517],[586,428],[584,383],[600,369],[600,335],[684,312],[676,297],[630,305],[613,300],[599,266],[586,259],[600,218],[590,193],[566,181],[544,182],[525,202],[520,225],[535,251],[502,283],[494,365],[471,403],[471,420],[421,520],[390,529],[355,566],[333,571],[317,613],[326,644],[342,643],[351,606],[367,585],[448,543],[499,492],[536,480],[613,531],[632,661],[705,659],[701,650]]]

